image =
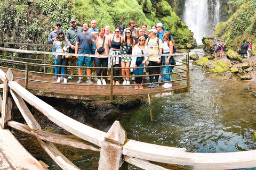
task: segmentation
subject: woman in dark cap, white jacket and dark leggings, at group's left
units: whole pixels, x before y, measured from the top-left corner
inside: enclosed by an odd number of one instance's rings
[[[65,38],[64,32],[58,30],[56,39],[53,41],[53,45],[56,48],[56,53],[66,53],[69,48],[69,41]],[[68,58],[65,55],[55,55],[58,60],[58,65],[68,65]],[[58,74],[61,74],[61,66],[58,68]],[[64,74],[68,74],[68,67],[64,67]],[[61,78],[58,75],[57,83],[60,83]],[[68,83],[66,75],[64,76],[63,83]]]

